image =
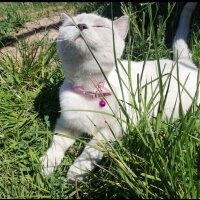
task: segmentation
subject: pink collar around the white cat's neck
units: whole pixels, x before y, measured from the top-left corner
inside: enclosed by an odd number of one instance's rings
[[[105,81],[101,81],[98,84],[98,88],[101,91],[101,93],[104,96],[110,96],[112,95],[111,92],[109,91],[104,91],[102,88],[104,87]],[[72,90],[78,94],[84,95],[88,98],[94,99],[94,98],[102,98],[102,95],[100,94],[100,92],[97,90],[97,88],[95,88],[93,91],[85,91],[85,89],[81,86],[74,86],[72,83],[69,82],[69,85],[71,86]]]

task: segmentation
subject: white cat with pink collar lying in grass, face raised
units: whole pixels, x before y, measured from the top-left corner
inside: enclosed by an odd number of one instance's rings
[[[191,60],[191,54],[186,44],[186,38],[189,32],[191,14],[195,9],[196,4],[197,3],[187,3],[181,13],[179,26],[173,42],[174,61],[167,59],[160,60],[161,70],[164,69],[163,74],[169,74],[173,65],[176,65],[178,56],[179,81],[184,84],[188,77],[185,88],[187,91],[189,91],[192,97],[194,97],[196,91],[198,70]],[[109,83],[111,84],[117,96],[117,99],[122,100],[122,92],[120,90],[115,67],[112,22],[109,19],[103,18],[101,16],[85,13],[77,15],[73,19],[84,35],[87,44],[94,53],[100,66],[102,67]],[[105,81],[105,78],[97,62],[85,44],[80,31],[74,25],[72,19],[66,14],[61,14],[61,20],[62,26],[59,29],[57,44],[59,57],[62,61],[63,71],[66,75],[66,79],[60,88],[61,110],[95,110],[111,114],[114,113],[116,116],[119,116],[121,112],[118,102],[115,99],[111,88]],[[113,22],[117,58],[122,56],[124,50],[124,39],[128,33],[128,20],[129,19],[127,16],[123,16]],[[128,61],[123,60],[122,64],[127,70]],[[137,90],[137,75],[142,73],[143,64],[144,62],[131,61],[133,80],[132,86],[134,93]],[[126,85],[129,85],[126,73],[119,64],[118,66],[120,76]],[[176,98],[178,96],[178,84],[175,78],[177,77],[176,66],[174,67],[172,74],[173,75],[171,78],[164,110],[164,117],[169,118],[171,116],[174,105],[176,105],[174,111],[174,119],[176,119],[179,117],[179,98]],[[95,88],[94,84],[90,80],[90,77],[92,77],[94,82],[101,89],[107,100],[107,103],[105,100],[103,100],[101,94]],[[143,72],[141,86],[145,85],[151,80],[156,79],[157,77],[157,61],[147,61]],[[167,76],[163,76],[163,82],[166,80],[166,77]],[[125,85],[122,85],[125,95],[125,102],[129,102],[130,93],[128,92]],[[156,88],[157,85],[158,81],[154,81],[152,84],[149,84],[147,87],[147,100],[149,100],[152,96],[152,88]],[[165,87],[164,94],[166,92],[166,88],[167,87]],[[158,90],[159,88],[157,91]],[[142,95],[144,95],[144,90],[142,91]],[[135,99],[137,100],[138,98],[136,97]],[[156,103],[158,103],[159,100],[160,96],[157,95],[157,97],[154,99],[154,105],[158,105]],[[191,102],[192,99],[190,96],[187,94],[187,92],[183,91],[182,104],[184,111],[187,111]],[[136,104],[138,104],[137,101]],[[112,110],[110,109],[109,105]],[[154,112],[157,110],[157,107],[158,106],[155,106]],[[131,106],[126,103],[126,109],[128,110],[129,115],[133,115],[133,122],[136,123],[137,120],[134,116],[133,108],[131,108]],[[149,113],[149,115],[151,114],[152,113]],[[95,112],[82,111],[61,112],[60,117],[57,119],[54,132],[78,138],[83,133],[88,133],[91,135],[89,131],[90,129],[101,141],[104,141],[104,138],[100,132],[103,133],[107,140],[115,140],[115,137],[111,133],[109,127],[105,124],[102,115],[103,114]],[[104,115],[104,118],[111,127],[112,131],[115,133],[115,136],[121,138],[122,130],[118,121],[114,117],[108,115]],[[126,118],[124,117],[124,119]],[[94,126],[91,120],[96,126]],[[96,127],[100,129],[100,132]],[[54,135],[51,146],[47,150],[46,154],[40,158],[43,165],[43,172],[45,174],[48,175],[56,169],[56,167],[61,163],[66,150],[74,142],[75,139]],[[93,137],[89,144],[97,146],[99,145],[99,142],[95,137]],[[88,175],[86,171],[91,171],[95,167],[95,163],[102,159],[103,153],[95,148],[92,148],[91,145],[87,145],[82,154],[75,160],[73,165],[71,165],[67,174],[68,179],[74,180],[75,177],[77,177],[79,180],[84,179]]]

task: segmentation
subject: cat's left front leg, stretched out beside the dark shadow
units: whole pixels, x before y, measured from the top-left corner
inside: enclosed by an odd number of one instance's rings
[[[61,163],[66,150],[75,142],[75,139],[67,138],[67,136],[76,136],[77,133],[70,129],[55,129],[56,133],[60,133],[65,136],[54,135],[53,142],[48,148],[44,156],[40,158],[43,173],[49,175],[57,166]]]

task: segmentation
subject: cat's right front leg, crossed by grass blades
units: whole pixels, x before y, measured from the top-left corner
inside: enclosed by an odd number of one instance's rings
[[[107,140],[115,140],[112,136],[112,133],[107,128],[101,129],[101,132],[104,134]],[[96,136],[104,142],[103,137],[100,133],[97,133]],[[96,138],[92,138],[89,142],[89,145],[102,148],[99,144],[99,141]],[[78,180],[87,179],[87,171],[92,171],[95,168],[95,164],[102,160],[103,152],[87,145],[83,150],[82,154],[74,161],[73,165],[68,170],[67,178],[71,181],[75,180],[75,177]]]

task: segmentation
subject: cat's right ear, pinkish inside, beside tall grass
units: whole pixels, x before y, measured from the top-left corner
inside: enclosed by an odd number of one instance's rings
[[[125,39],[128,33],[129,17],[124,15],[113,22],[115,29],[122,39]]]

